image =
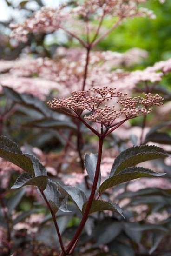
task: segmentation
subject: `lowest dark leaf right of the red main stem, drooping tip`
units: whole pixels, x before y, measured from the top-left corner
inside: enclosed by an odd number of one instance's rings
[[[83,205],[83,208],[82,208],[83,214],[85,212],[86,206],[87,206],[87,202],[85,202]],[[110,202],[110,201],[105,202],[102,200],[93,200],[89,214],[91,214],[93,212],[97,212],[97,211],[112,211],[112,212],[119,213],[121,216],[123,216],[122,209],[118,206],[118,204],[116,204],[114,202]]]

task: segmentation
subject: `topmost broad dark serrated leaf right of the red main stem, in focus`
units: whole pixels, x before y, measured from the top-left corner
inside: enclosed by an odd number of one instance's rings
[[[128,148],[122,151],[114,160],[110,177],[116,175],[125,168],[135,166],[138,163],[148,160],[166,157],[167,154],[162,148],[156,146],[142,145]]]

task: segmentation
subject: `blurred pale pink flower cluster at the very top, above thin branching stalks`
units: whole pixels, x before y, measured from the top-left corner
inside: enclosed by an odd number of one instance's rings
[[[11,28],[13,28],[11,36],[25,42],[30,32],[53,32],[61,28],[77,38],[76,35],[73,35],[74,31],[72,31],[67,21],[75,20],[75,24],[77,24],[80,17],[87,21],[91,20],[92,15],[95,20],[99,21],[106,14],[117,16],[119,20],[126,17],[146,15],[155,18],[152,11],[138,7],[139,3],[143,2],[146,2],[146,0],[86,0],[82,4],[77,5],[76,3],[73,8],[65,8],[67,4],[56,9],[42,7],[23,23],[11,24]],[[74,27],[73,24],[72,27]]]

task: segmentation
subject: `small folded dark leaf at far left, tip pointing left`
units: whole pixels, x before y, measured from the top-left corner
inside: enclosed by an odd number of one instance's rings
[[[38,176],[33,177],[30,173],[23,172],[16,180],[14,185],[12,186],[12,189],[18,189],[23,186],[27,185],[33,185],[37,186],[40,189],[44,190],[47,185],[47,176]]]

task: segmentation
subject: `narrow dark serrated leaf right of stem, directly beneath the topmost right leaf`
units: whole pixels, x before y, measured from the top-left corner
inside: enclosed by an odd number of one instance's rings
[[[115,185],[118,185],[123,182],[128,182],[137,178],[152,176],[160,177],[163,175],[164,173],[158,173],[147,168],[129,167],[105,180],[99,187],[99,193],[101,194],[106,189],[112,188]]]

